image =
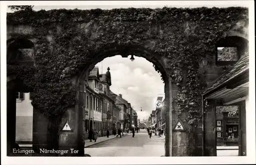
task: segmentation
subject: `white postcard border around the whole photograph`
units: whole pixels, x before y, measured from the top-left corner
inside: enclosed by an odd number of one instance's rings
[[[250,108],[246,113],[247,156],[240,157],[7,157],[6,156],[6,11],[8,5],[59,6],[67,8],[87,5],[88,8],[127,8],[127,7],[229,7],[249,8],[249,56]],[[62,8],[65,8],[63,7]],[[2,164],[241,164],[256,163],[255,160],[255,51],[254,51],[254,2],[253,1],[1,1],[1,161]],[[153,149],[154,150],[154,149]]]

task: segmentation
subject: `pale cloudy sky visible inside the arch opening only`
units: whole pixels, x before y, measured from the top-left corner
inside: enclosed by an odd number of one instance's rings
[[[130,58],[114,56],[96,64],[99,73],[106,73],[110,67],[112,85],[110,89],[131,103],[140,120],[148,119],[159,94],[164,94],[164,83],[153,64],[142,57]],[[142,107],[142,111],[140,111]]]

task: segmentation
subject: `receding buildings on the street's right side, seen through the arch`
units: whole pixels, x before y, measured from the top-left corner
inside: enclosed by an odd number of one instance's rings
[[[147,120],[147,127],[165,128],[165,99],[163,97],[157,97],[157,102],[161,102],[160,106],[156,106],[156,110],[153,110]]]

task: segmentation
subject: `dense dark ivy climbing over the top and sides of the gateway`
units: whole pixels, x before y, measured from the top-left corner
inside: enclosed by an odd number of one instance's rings
[[[36,38],[35,66],[8,65],[8,73],[36,92],[34,107],[47,116],[59,115],[76,104],[72,78],[92,59],[113,45],[139,45],[171,59],[167,68],[178,88],[174,111],[187,112],[190,126],[200,122],[200,94],[204,81],[200,66],[205,52],[214,53],[215,43],[229,30],[241,31],[238,21],[248,23],[248,9],[230,8],[128,8],[112,10],[21,10],[7,14],[7,25],[28,25]],[[50,36],[50,37],[49,37]],[[50,38],[50,39],[49,39]],[[153,41],[155,44],[148,44]],[[155,69],[159,72],[159,66]],[[19,71],[22,70],[22,71]],[[26,71],[27,70],[27,71]]]

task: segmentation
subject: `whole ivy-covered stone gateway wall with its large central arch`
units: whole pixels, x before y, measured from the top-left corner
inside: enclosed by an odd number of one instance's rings
[[[165,83],[165,155],[216,155],[204,146],[215,138],[202,130],[201,93],[233,66],[216,62],[216,44],[229,36],[248,38],[247,9],[8,13],[8,154],[15,143],[14,92],[33,91],[34,151],[73,148],[79,152],[71,156],[84,155],[84,91],[90,70],[106,57],[134,55],[154,63]],[[173,131],[178,119],[187,131]],[[67,122],[72,130],[62,131]]]

